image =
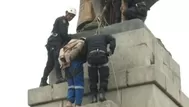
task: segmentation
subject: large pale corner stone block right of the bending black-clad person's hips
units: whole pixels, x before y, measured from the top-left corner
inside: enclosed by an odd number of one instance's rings
[[[125,48],[117,47],[115,54],[110,57],[114,71],[151,65],[153,62],[152,51],[146,45]]]

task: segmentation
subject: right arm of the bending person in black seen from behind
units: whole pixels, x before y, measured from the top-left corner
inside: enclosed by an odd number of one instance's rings
[[[106,40],[107,40],[107,43],[110,44],[109,48],[113,54],[116,47],[116,39],[112,35],[106,35]]]

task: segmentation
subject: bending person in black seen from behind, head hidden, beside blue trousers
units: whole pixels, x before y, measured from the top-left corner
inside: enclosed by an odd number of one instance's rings
[[[97,102],[98,92],[99,100],[105,101],[109,78],[108,56],[114,53],[116,40],[111,35],[96,35],[87,37],[85,42],[92,103]],[[107,51],[108,44],[110,44],[110,51]],[[100,75],[99,90],[97,87],[98,73]]]

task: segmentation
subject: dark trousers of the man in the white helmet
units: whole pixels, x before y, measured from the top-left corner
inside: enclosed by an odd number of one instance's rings
[[[58,62],[59,50],[60,49],[55,48],[48,49],[48,59],[43,73],[44,80],[47,80],[47,77],[49,76],[50,72],[53,70],[54,67],[57,79],[62,78],[60,64]]]

